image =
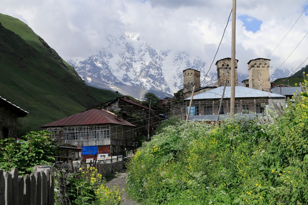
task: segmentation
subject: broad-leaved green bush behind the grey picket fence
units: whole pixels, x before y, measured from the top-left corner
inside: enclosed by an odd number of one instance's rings
[[[51,165],[58,145],[51,142],[47,131],[30,132],[18,143],[14,139],[0,140],[0,167],[5,171],[18,168],[19,174],[30,174],[40,164]]]

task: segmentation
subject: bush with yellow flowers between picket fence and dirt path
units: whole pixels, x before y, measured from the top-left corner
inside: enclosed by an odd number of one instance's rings
[[[55,204],[74,205],[120,205],[121,192],[118,187],[106,187],[105,179],[94,167],[79,173],[64,175],[63,171],[54,171],[55,187],[59,180],[62,187],[55,191]],[[61,190],[61,191],[59,191]]]

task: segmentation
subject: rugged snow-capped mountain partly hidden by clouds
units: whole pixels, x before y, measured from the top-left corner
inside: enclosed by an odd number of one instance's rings
[[[118,91],[140,99],[147,92],[160,99],[172,97],[183,89],[183,70],[201,73],[201,86],[217,81],[217,73],[208,72],[206,63],[197,56],[172,50],[154,48],[138,34],[123,33],[119,38],[107,36],[109,45],[85,60],[68,59],[77,73],[91,86]],[[271,80],[289,76],[291,71],[276,71]],[[238,73],[238,81],[248,75]]]

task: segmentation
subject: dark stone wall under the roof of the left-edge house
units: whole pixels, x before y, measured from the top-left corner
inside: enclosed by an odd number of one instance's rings
[[[9,111],[0,109],[0,139],[17,139],[17,117]]]

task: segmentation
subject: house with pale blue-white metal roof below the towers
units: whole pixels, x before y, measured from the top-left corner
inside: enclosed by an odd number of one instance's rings
[[[189,113],[189,120],[216,121],[220,107],[223,86],[193,96]],[[230,118],[231,87],[226,86],[220,110],[220,120],[223,117]],[[190,104],[191,97],[185,99],[186,110]],[[276,110],[276,105],[285,105],[286,97],[275,93],[265,92],[244,86],[235,86],[235,108],[236,116],[262,115],[265,108]],[[187,113],[188,114],[188,113]]]

